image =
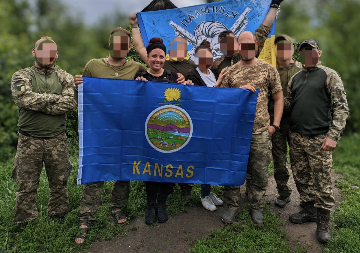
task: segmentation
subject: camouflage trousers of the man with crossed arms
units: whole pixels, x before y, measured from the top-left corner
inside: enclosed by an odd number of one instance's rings
[[[53,138],[34,138],[19,134],[12,172],[12,177],[19,186],[14,217],[17,224],[33,221],[37,217],[36,193],[43,163],[50,188],[48,215],[69,210],[66,185],[71,163],[66,134]]]

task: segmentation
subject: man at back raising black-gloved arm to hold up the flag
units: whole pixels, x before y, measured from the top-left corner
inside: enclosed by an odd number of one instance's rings
[[[271,25],[273,25],[276,13],[278,12],[280,3],[284,0],[273,0],[269,12],[267,12],[264,21],[262,21],[260,27],[255,30],[255,35],[258,44],[258,51],[256,53],[256,58],[259,57],[261,50],[264,48],[265,40],[269,36],[271,31]],[[237,38],[233,31],[225,30],[221,32],[218,36],[220,43],[220,50],[224,52],[224,55],[220,58],[217,58],[211,65],[211,68],[215,69],[218,73],[221,72],[223,68],[230,67],[235,63],[239,62],[241,59],[240,54],[237,50]],[[235,46],[234,45],[235,42]],[[222,48],[225,48],[222,49]]]

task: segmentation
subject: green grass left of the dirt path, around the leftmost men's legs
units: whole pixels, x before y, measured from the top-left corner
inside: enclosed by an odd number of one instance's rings
[[[73,243],[74,236],[79,234],[77,208],[82,194],[82,185],[76,185],[78,171],[77,140],[69,140],[72,172],[68,179],[70,212],[63,221],[53,221],[47,216],[46,208],[49,200],[48,179],[43,170],[37,192],[38,217],[29,223],[22,234],[17,233],[14,223],[14,206],[17,185],[11,177],[13,160],[0,165],[0,252],[72,252],[90,248],[94,240],[111,240],[114,235],[127,236],[122,226],[113,222],[109,207],[112,182],[105,182],[102,190],[101,205],[96,213],[96,221],[91,225],[87,239],[83,245]],[[213,186],[212,191],[221,194],[223,187]],[[193,189],[193,200],[190,205],[201,205],[200,185]],[[145,216],[146,192],[144,182],[134,181],[130,185],[130,197],[123,207],[129,220]],[[174,194],[167,201],[168,213],[174,216],[186,212],[185,203],[180,189],[176,186]],[[131,227],[132,230],[138,229]]]

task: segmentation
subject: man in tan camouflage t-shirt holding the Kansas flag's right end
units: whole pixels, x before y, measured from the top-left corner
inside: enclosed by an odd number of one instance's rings
[[[262,208],[267,188],[267,165],[271,161],[271,136],[279,128],[284,108],[284,96],[280,77],[276,68],[269,63],[257,59],[258,41],[255,34],[245,31],[238,38],[241,60],[228,68],[228,74],[220,87],[243,88],[251,92],[260,89],[257,97],[254,127],[247,165],[248,199],[252,220],[261,226],[264,222]],[[270,125],[267,111],[268,94],[274,98],[274,124]],[[239,186],[225,187],[225,201],[228,210],[222,215],[225,223],[233,223],[239,210]]]

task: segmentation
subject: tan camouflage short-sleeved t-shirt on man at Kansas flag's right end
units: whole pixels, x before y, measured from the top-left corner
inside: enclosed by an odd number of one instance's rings
[[[268,93],[274,94],[282,90],[280,76],[273,65],[259,59],[249,67],[244,67],[238,62],[228,68],[228,74],[222,80],[220,87],[239,88],[246,84],[260,89],[252,132],[262,133],[270,125],[270,116],[267,111]]]

